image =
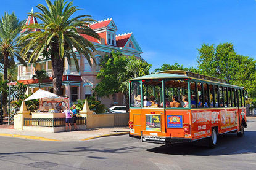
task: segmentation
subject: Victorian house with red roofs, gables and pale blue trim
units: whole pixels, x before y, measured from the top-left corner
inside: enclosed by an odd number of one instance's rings
[[[31,12],[33,12],[33,10]],[[36,18],[28,16],[26,25],[35,23],[38,23]],[[76,99],[85,99],[86,97],[92,95],[93,88],[100,81],[97,79],[97,73],[101,69],[99,66],[99,61],[101,57],[110,55],[112,50],[122,52],[126,56],[134,55],[139,60],[143,60],[141,58],[142,50],[139,47],[134,34],[123,33],[117,35],[116,33],[118,29],[112,18],[91,23],[89,26],[101,37],[100,41],[98,41],[93,37],[83,35],[85,39],[91,41],[96,48],[96,52],[93,53],[93,56],[96,58],[96,62],[91,59],[93,64],[90,66],[86,58],[83,58],[78,54],[80,71],[77,72],[74,60],[72,60],[70,64],[68,64],[67,60],[65,61],[64,75],[62,78],[62,95],[70,97],[70,102],[75,102]],[[46,70],[50,78],[44,80],[43,84],[41,84],[41,88],[47,91],[53,91],[51,77],[52,64],[50,59],[41,60],[36,64],[28,64],[27,67],[17,63],[17,68],[18,82],[23,82],[25,85],[28,85],[30,91],[33,93],[39,89],[38,80],[32,79],[34,71],[40,69]],[[112,104],[125,104],[125,98],[120,93],[109,96],[109,98],[99,98],[99,100],[102,102],[102,104],[105,104],[106,107],[109,107]]]

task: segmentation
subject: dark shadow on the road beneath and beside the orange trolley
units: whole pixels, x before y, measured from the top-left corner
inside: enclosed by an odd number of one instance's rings
[[[215,149],[210,149],[208,140],[202,139],[197,142],[180,143],[174,145],[163,145],[148,152],[162,153],[168,155],[195,155],[195,156],[215,156],[215,155],[237,155],[256,153],[256,131],[246,131],[244,137],[237,137],[235,133],[228,133],[218,136],[218,145]]]

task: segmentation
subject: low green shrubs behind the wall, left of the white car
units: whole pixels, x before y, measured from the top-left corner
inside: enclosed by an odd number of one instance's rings
[[[101,114],[101,113],[105,112],[104,104],[101,104],[101,101],[97,101],[94,96],[91,96],[91,97],[86,98],[86,99],[87,99],[88,106],[89,106],[90,110],[93,110],[97,114]],[[85,104],[85,99],[83,99],[83,100],[78,99],[75,102],[76,109],[78,111],[83,110],[84,104]],[[72,108],[70,108],[70,109],[72,109]]]

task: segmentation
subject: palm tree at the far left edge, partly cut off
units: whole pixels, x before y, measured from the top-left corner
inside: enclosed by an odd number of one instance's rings
[[[7,69],[10,68],[11,64],[15,63],[15,58],[20,63],[26,64],[22,57],[20,57],[20,47],[17,46],[17,39],[24,23],[25,21],[19,21],[14,13],[8,14],[8,12],[0,20],[0,57],[4,64],[4,80],[7,80]],[[2,101],[4,114],[7,114],[7,92],[2,93]]]

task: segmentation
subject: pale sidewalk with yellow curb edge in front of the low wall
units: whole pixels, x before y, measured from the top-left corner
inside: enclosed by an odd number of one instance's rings
[[[23,139],[34,139],[43,141],[86,141],[97,137],[115,136],[128,134],[128,127],[117,128],[95,128],[83,131],[43,133],[35,131],[20,131],[16,129],[0,128],[0,136],[19,137]]]

